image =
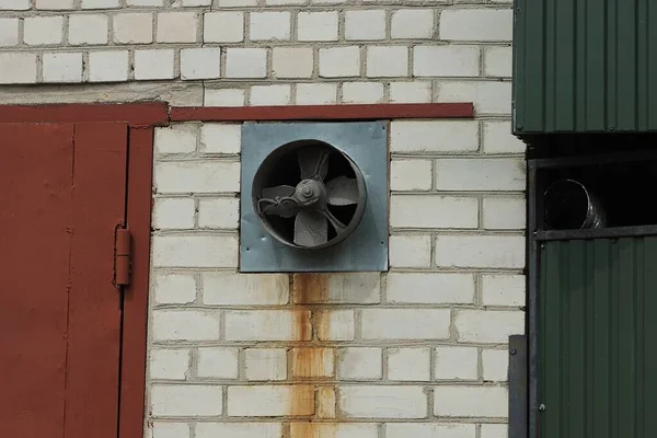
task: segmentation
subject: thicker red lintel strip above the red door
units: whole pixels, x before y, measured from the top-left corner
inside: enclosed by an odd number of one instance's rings
[[[128,104],[0,105],[0,123],[124,122],[132,126],[169,124],[165,102]]]

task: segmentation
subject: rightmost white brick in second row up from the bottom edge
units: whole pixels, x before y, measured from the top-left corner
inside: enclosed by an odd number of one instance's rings
[[[506,417],[508,394],[499,387],[437,387],[434,414],[445,417]]]

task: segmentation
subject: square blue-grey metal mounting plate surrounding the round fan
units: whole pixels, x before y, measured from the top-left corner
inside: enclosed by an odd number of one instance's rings
[[[367,204],[354,234],[325,250],[284,245],[261,224],[252,183],[265,158],[278,147],[318,139],[342,150],[365,176]],[[388,123],[265,123],[242,126],[240,272],[383,272],[388,270]]]

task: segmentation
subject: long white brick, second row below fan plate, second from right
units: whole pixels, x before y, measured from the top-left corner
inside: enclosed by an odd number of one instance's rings
[[[446,339],[449,309],[365,309],[364,339]]]

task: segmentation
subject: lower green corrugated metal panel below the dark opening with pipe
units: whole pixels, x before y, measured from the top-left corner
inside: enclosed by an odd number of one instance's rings
[[[541,438],[657,434],[657,238],[541,250]]]

